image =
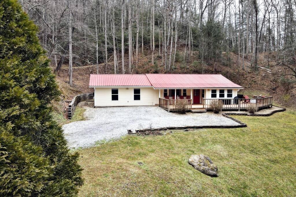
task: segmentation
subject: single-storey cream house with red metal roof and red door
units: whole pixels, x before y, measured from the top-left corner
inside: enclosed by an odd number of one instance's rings
[[[91,74],[95,107],[158,105],[163,100],[187,99],[203,108],[210,99],[234,104],[242,86],[221,74]],[[226,103],[225,103],[226,102]]]

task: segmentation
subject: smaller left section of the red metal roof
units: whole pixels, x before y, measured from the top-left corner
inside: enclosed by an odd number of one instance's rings
[[[91,74],[89,86],[152,86],[144,74]]]

